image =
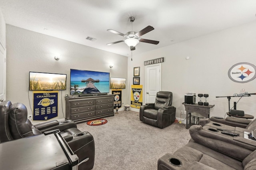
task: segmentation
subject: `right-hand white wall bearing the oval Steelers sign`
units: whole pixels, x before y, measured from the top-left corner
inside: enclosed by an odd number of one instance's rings
[[[256,92],[256,79],[247,83],[236,83],[228,78],[229,68],[236,63],[248,62],[256,65],[255,30],[256,22],[253,22],[141,55],[136,55],[135,51],[133,61],[128,59],[128,80],[132,83],[132,69],[140,66],[140,83],[145,84],[144,61],[164,57],[162,91],[173,92],[172,105],[176,107],[176,117],[180,117],[180,110],[185,109],[182,102],[187,92],[195,92],[196,95],[209,94],[209,104],[215,105],[210,109],[210,116],[224,117],[228,111],[228,99],[216,96],[232,96],[242,89],[248,93]],[[188,56],[190,59],[186,60]],[[145,94],[146,92],[143,95],[143,104]],[[230,105],[233,106],[238,100],[239,98],[232,98]],[[197,97],[196,102],[198,101]],[[256,117],[255,101],[255,95],[243,97],[238,102],[237,109]],[[184,117],[183,115],[182,118]]]

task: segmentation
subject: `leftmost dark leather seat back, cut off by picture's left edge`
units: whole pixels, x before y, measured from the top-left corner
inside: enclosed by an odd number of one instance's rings
[[[0,143],[12,141],[12,135],[9,128],[9,112],[12,102],[3,101],[0,103]]]

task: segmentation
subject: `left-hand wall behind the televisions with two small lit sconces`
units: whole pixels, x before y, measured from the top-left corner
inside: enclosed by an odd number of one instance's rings
[[[64,96],[70,94],[70,68],[110,72],[111,77],[127,78],[128,74],[127,57],[12,25],[6,25],[6,48],[6,98],[12,103],[25,104],[28,114],[32,114],[30,106],[33,109],[33,93],[28,92],[30,71],[67,74],[67,90],[59,91],[58,117],[54,119],[64,118]],[[54,60],[55,55],[60,56],[59,61]],[[113,68],[109,67],[110,63],[114,63]],[[128,94],[128,88],[122,90],[124,104],[128,103]]]

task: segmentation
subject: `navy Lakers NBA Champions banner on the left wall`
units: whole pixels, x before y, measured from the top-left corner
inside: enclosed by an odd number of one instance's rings
[[[33,120],[48,120],[58,116],[58,91],[34,92]]]

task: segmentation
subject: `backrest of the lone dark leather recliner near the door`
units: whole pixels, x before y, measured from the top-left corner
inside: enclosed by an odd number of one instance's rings
[[[154,109],[158,110],[164,106],[172,105],[172,92],[157,92]]]

